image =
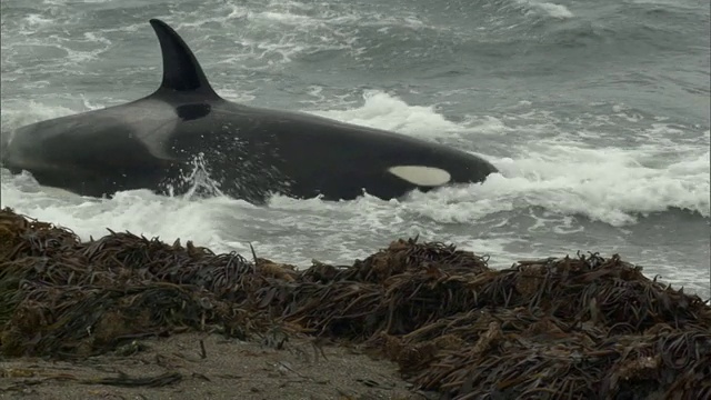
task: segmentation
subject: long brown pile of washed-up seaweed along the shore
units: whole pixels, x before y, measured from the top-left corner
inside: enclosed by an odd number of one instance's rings
[[[327,337],[444,398],[710,399],[711,307],[619,256],[487,259],[397,240],[308,270],[0,211],[0,354],[83,358],[186,330]]]

